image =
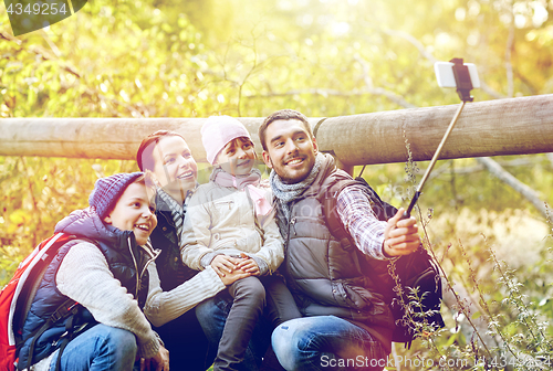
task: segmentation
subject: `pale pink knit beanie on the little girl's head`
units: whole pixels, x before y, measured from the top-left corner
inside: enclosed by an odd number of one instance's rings
[[[213,165],[217,155],[236,138],[247,137],[251,140],[246,127],[230,116],[211,116],[201,127],[201,142],[207,152],[207,160]]]

